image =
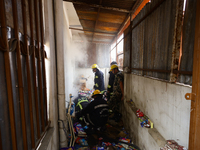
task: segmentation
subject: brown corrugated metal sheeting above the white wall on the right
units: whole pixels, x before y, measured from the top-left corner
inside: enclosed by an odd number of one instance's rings
[[[195,2],[188,0],[188,3],[191,4],[188,4],[189,6],[187,6],[186,9],[189,10],[185,12],[185,17],[187,18],[184,20],[183,26],[181,71],[192,71],[195,19],[195,11],[192,12],[192,10],[195,10]],[[176,8],[177,0],[152,0],[133,20],[131,57],[133,73],[170,80],[173,38],[177,30],[175,26]],[[125,30],[124,34],[124,67],[129,67],[129,29]],[[181,75],[178,76],[177,82],[191,84],[190,79],[191,75]]]

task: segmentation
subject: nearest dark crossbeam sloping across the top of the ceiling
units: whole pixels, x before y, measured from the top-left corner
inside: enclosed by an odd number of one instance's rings
[[[101,8],[101,9],[108,9],[108,10],[113,10],[113,11],[119,11],[119,12],[123,12],[123,13],[129,13],[130,11],[127,9],[121,9],[121,8],[114,8],[114,7],[106,7],[106,6],[102,6],[102,5],[97,5],[97,4],[87,4],[87,3],[83,3],[80,1],[76,1],[76,0],[63,0],[65,2],[72,2],[73,4],[78,4],[78,5],[83,5],[83,6],[89,6],[89,7],[95,7],[95,8]]]

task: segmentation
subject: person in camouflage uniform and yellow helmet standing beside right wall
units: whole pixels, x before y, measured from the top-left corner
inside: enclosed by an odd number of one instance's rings
[[[119,121],[121,118],[120,105],[124,99],[124,75],[116,64],[111,66],[112,73],[115,75],[115,80],[113,84],[113,95],[108,101],[108,105],[114,113],[115,121]]]

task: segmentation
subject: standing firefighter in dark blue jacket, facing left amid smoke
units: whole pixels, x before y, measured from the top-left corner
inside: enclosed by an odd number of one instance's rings
[[[99,70],[97,64],[92,65],[92,70],[95,73],[94,76],[94,89],[99,91],[104,91],[104,75],[103,72]]]

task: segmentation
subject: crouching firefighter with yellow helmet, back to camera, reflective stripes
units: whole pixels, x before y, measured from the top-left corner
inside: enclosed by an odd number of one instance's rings
[[[107,102],[102,99],[102,94],[99,90],[95,90],[92,97],[94,100],[81,111],[81,115],[89,128],[97,129],[107,123],[109,108]]]

